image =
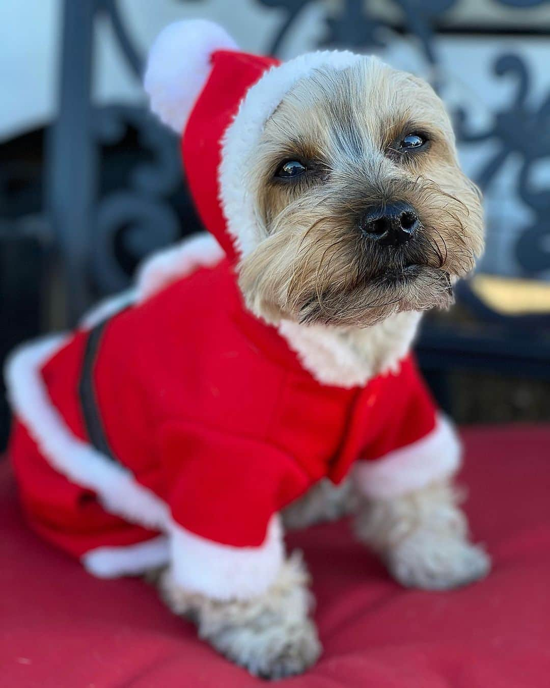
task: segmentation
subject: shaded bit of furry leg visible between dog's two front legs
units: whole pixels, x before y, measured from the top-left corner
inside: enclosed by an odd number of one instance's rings
[[[281,515],[285,528],[307,528],[316,523],[336,521],[354,511],[357,503],[350,478],[340,485],[325,478],[287,506]]]

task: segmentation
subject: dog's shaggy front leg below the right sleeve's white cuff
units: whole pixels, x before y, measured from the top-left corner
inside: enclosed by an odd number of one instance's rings
[[[490,568],[485,550],[468,539],[458,502],[450,482],[391,499],[362,499],[356,530],[402,585],[456,588],[484,577]]]

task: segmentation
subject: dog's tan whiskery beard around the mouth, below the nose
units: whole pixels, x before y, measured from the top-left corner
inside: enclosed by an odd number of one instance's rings
[[[448,308],[451,276],[473,256],[447,250],[423,231],[406,246],[377,247],[350,228],[332,241],[281,232],[266,239],[240,266],[239,283],[252,312],[277,323],[368,327],[395,313]]]

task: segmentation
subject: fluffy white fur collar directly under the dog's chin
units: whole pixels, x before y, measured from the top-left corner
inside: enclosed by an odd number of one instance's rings
[[[396,372],[410,350],[420,319],[421,313],[406,311],[364,328],[283,320],[278,331],[319,383],[349,389],[364,387],[377,375]]]

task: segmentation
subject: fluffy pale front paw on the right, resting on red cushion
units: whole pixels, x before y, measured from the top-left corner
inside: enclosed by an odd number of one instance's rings
[[[448,590],[483,578],[491,560],[462,537],[417,530],[388,552],[388,568],[406,588]]]

